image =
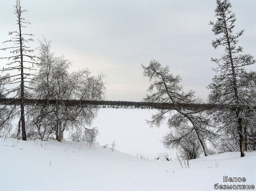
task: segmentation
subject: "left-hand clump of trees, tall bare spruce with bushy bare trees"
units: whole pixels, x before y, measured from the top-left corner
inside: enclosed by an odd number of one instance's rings
[[[6,102],[8,104],[3,102],[0,105],[0,136],[10,133],[11,120],[19,115],[17,134],[14,135],[18,139],[62,141],[64,131],[70,130],[73,133],[71,138],[93,143],[98,131],[85,126],[90,125],[97,115],[98,107],[91,102],[104,99],[104,75],[92,76],[88,69],[69,73],[70,62],[64,57],[54,57],[50,42],[46,40],[40,42],[40,55],[31,56],[33,49],[27,43],[33,39],[26,37],[33,35],[22,31],[27,23],[22,17],[25,11],[20,1],[16,0],[14,13],[18,30],[10,32],[9,35],[14,37],[4,42],[13,45],[1,49],[11,50],[13,54],[2,58],[8,60],[7,67],[2,71],[18,73],[0,77],[0,99],[12,97]],[[27,100],[29,104],[26,105]],[[74,100],[75,104],[70,104]],[[75,134],[74,131],[80,133]]]

